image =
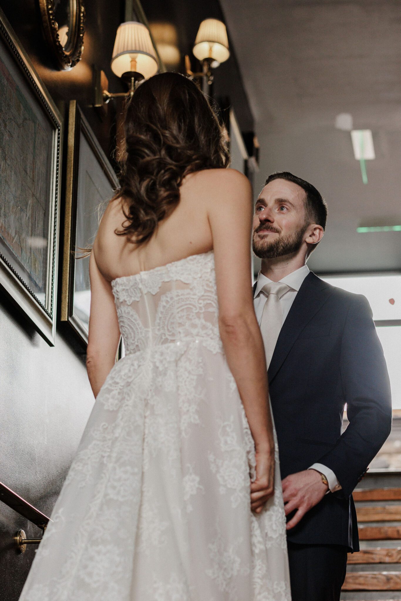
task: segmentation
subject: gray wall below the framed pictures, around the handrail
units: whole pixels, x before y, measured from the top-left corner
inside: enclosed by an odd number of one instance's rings
[[[0,480],[51,513],[94,398],[82,356],[58,335],[48,344],[4,297],[0,305]],[[6,505],[0,507],[0,599],[17,599],[35,546],[19,554],[19,528],[41,531]]]

